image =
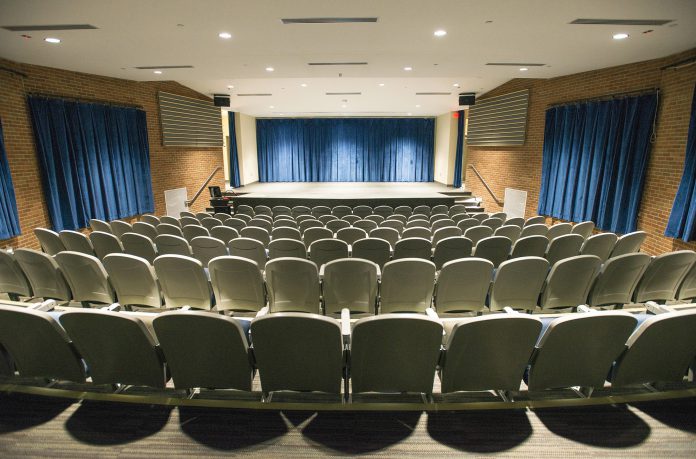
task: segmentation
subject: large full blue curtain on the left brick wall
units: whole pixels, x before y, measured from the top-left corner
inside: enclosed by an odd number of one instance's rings
[[[29,97],[53,229],[154,211],[145,112]]]

